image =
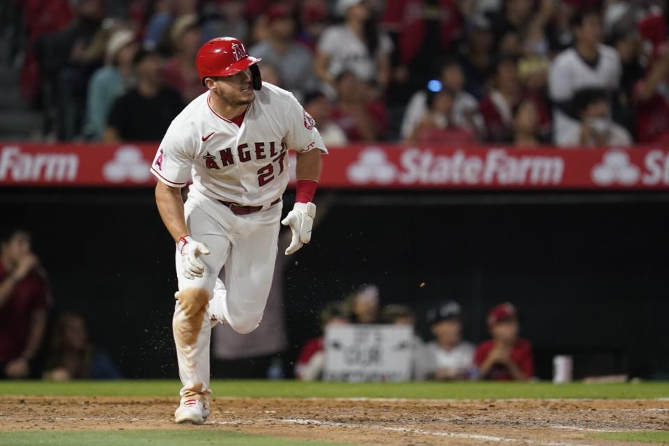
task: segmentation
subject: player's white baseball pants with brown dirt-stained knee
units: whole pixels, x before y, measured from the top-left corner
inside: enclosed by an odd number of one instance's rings
[[[186,225],[194,240],[210,254],[200,256],[203,277],[186,279],[176,252],[179,292],[172,329],[176,344],[182,399],[199,399],[208,406],[209,344],[212,323],[208,314],[217,279],[217,299],[226,323],[245,334],[258,327],[272,284],[282,203],[248,215],[235,215],[227,206],[197,197],[184,204]],[[221,296],[219,296],[221,294]],[[217,303],[219,303],[217,301]]]

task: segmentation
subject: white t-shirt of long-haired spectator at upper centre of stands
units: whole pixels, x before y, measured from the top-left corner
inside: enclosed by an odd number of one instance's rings
[[[328,71],[337,77],[342,72],[350,71],[363,82],[376,79],[378,69],[376,59],[392,52],[392,40],[380,34],[376,54],[369,54],[367,45],[357,38],[346,25],[329,26],[318,40],[318,51],[330,56]]]

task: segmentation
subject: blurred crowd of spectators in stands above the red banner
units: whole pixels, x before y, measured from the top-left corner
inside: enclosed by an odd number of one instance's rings
[[[662,0],[28,0],[22,93],[59,140],[160,139],[243,40],[328,144],[626,146],[666,138]]]

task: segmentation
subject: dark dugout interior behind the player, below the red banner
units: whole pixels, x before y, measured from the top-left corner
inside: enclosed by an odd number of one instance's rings
[[[383,303],[417,309],[423,334],[431,302],[459,300],[472,341],[486,337],[491,305],[514,302],[541,378],[557,353],[575,355],[577,377],[667,377],[665,195],[328,195],[314,242],[286,273],[286,363],[318,333],[324,302],[374,283]],[[177,376],[174,247],[152,190],[5,189],[0,202],[3,220],[33,230],[56,309],[84,314],[125,376]]]

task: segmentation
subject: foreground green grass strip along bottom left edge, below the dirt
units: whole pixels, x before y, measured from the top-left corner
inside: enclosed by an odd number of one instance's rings
[[[227,431],[29,431],[0,432],[3,446],[345,446]]]

